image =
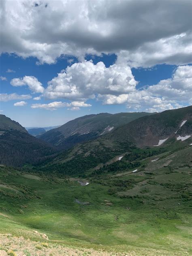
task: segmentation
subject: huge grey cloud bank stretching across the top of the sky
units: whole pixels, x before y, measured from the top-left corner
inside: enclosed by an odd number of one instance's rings
[[[100,53],[116,53],[131,66],[191,62],[190,0],[0,3],[2,52],[41,64],[63,54],[82,60]]]

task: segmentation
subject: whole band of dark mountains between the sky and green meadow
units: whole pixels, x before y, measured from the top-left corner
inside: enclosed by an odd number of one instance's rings
[[[81,173],[131,148],[184,145],[189,144],[191,136],[192,106],[162,113],[85,115],[37,138],[19,123],[0,115],[0,163],[22,166],[42,162],[41,168],[49,170],[58,169],[59,164],[59,169],[73,166],[75,173],[79,168]]]

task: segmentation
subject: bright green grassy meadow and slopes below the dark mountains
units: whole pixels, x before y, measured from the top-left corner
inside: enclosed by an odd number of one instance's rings
[[[119,255],[191,254],[191,156],[191,146],[154,153],[135,150],[117,163],[137,160],[141,166],[136,172],[118,166],[115,172],[109,164],[84,179],[2,166],[0,232],[22,235],[40,247],[44,241],[50,248],[57,243],[87,248],[82,255],[90,254],[89,248],[96,255],[100,250]],[[85,182],[89,184],[81,186]]]

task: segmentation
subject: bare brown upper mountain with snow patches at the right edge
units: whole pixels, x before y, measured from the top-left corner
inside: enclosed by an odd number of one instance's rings
[[[107,138],[130,141],[138,147],[152,147],[171,138],[185,140],[187,136],[192,136],[192,106],[141,117],[117,128]]]

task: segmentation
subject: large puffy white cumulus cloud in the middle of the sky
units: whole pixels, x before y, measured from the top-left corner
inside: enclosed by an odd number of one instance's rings
[[[97,94],[128,93],[134,91],[136,85],[129,66],[113,64],[106,68],[103,62],[94,65],[90,60],[75,63],[58,73],[48,82],[43,95],[49,99],[85,101]]]

